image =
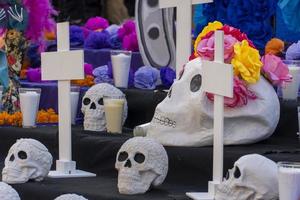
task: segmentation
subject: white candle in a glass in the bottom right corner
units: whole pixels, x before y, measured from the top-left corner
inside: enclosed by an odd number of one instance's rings
[[[300,199],[300,168],[279,167],[279,199]]]

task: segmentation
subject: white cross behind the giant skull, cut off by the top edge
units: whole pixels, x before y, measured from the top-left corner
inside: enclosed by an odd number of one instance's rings
[[[177,8],[176,21],[176,74],[189,61],[192,45],[192,6],[211,3],[213,0],[159,0],[160,8]]]

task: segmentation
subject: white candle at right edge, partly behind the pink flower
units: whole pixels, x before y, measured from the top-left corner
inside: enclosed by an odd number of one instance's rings
[[[298,98],[300,84],[300,67],[289,65],[290,74],[293,80],[282,87],[282,97],[286,100],[296,100]]]

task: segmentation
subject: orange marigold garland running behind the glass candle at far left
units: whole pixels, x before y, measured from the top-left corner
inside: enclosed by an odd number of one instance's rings
[[[36,122],[40,124],[58,123],[58,115],[52,108],[40,110],[37,114]],[[22,113],[8,114],[7,112],[1,112],[0,126],[22,126]]]

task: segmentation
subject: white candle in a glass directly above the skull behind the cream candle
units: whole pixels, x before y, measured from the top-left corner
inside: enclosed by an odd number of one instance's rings
[[[120,53],[111,55],[114,82],[116,87],[127,88],[131,64],[131,55]]]

